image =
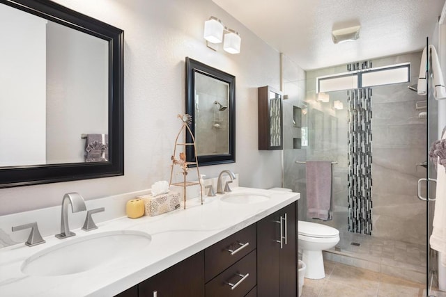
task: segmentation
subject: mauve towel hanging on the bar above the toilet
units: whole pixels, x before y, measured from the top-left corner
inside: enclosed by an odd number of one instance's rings
[[[307,217],[332,220],[332,163],[307,161]]]

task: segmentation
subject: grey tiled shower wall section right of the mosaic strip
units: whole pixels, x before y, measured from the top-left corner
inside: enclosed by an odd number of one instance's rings
[[[416,83],[421,53],[374,61],[374,67],[410,62]],[[408,90],[406,83],[374,88],[372,129],[374,141],[374,232],[381,239],[421,243],[426,238],[426,204],[417,199],[417,180],[426,169],[426,119],[418,117],[415,102],[424,96]]]

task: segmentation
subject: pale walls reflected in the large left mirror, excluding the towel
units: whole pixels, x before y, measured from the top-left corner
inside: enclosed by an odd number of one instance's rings
[[[0,26],[0,166],[84,162],[81,134],[108,134],[108,42],[6,5]]]

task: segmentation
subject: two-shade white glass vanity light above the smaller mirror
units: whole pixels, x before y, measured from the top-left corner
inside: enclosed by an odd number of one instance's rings
[[[242,39],[237,31],[228,29],[217,17],[210,17],[204,22],[203,38],[206,39],[206,45],[217,51],[217,44],[223,42],[224,51],[229,54],[239,54]]]

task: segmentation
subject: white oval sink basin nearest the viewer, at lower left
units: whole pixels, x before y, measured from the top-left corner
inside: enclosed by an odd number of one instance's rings
[[[138,255],[151,235],[139,231],[111,231],[78,237],[41,250],[22,264],[26,275],[68,275]]]

